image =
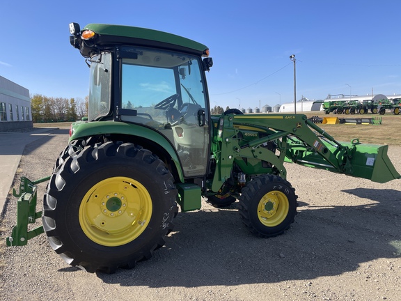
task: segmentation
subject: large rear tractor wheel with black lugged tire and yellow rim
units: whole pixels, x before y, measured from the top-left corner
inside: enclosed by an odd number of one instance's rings
[[[176,195],[173,176],[150,151],[96,144],[70,154],[54,171],[43,227],[70,265],[88,272],[133,268],[164,245]]]

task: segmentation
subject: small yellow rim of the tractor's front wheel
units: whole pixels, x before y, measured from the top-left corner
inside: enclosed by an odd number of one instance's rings
[[[290,210],[290,203],[287,196],[283,192],[272,191],[260,199],[258,218],[265,226],[278,226],[287,217],[288,210]]]

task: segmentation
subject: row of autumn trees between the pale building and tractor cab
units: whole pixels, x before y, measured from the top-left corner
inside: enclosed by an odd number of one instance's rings
[[[82,98],[49,98],[31,95],[33,123],[77,121],[88,116],[88,96]]]

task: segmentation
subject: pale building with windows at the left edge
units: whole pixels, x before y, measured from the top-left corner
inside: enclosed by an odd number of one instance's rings
[[[29,90],[0,76],[0,132],[32,126]]]

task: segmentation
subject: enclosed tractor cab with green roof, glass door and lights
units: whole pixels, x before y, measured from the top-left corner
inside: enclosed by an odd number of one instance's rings
[[[70,33],[91,68],[88,121],[151,128],[171,143],[184,177],[204,176],[210,155],[207,47],[128,26],[89,24],[81,31],[71,24]]]

